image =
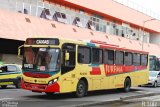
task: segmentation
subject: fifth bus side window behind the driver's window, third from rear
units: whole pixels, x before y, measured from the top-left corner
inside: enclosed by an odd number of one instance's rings
[[[132,53],[130,53],[130,52],[124,53],[124,64],[125,65],[132,65]]]

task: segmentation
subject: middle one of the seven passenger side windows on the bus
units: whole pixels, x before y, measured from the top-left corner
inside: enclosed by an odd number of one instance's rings
[[[124,52],[116,51],[115,52],[115,64],[123,65],[123,59],[124,59],[123,57],[124,57]]]

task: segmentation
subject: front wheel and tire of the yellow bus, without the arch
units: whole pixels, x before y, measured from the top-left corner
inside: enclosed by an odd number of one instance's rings
[[[83,97],[87,93],[87,84],[84,80],[80,80],[77,84],[76,88],[76,96]]]

